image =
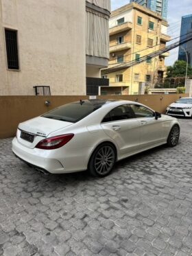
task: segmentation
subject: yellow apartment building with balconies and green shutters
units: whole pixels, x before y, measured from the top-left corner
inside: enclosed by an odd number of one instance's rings
[[[110,62],[102,74],[103,78],[109,78],[110,86],[101,86],[101,95],[139,94],[141,84],[152,88],[165,77],[165,57],[169,53],[147,58],[133,67],[123,65],[164,48],[171,39],[167,35],[167,21],[148,8],[130,3],[112,12],[109,27]],[[122,68],[112,71],[117,66]]]

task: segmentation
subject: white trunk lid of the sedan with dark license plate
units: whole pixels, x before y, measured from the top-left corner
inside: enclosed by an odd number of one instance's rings
[[[51,132],[55,132],[71,124],[73,123],[68,121],[35,117],[19,124],[16,137],[23,146],[34,148],[39,141],[45,139]]]

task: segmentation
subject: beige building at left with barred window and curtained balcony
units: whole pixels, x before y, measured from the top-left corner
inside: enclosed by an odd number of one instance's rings
[[[1,0],[0,95],[97,92],[109,16],[110,0]]]

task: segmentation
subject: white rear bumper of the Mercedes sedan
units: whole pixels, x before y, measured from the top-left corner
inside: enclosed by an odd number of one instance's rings
[[[40,150],[38,148],[27,148],[17,141],[16,138],[12,141],[12,152],[25,163],[32,165],[37,170],[49,172],[51,174],[63,174],[69,172],[78,172],[86,170],[86,159],[83,159],[83,152],[79,150],[66,154],[57,150]],[[65,157],[64,157],[65,156]]]

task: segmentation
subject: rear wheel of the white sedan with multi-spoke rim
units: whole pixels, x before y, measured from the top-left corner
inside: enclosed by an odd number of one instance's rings
[[[115,146],[111,143],[100,144],[91,155],[88,163],[88,172],[96,177],[107,176],[115,165],[116,155]]]

